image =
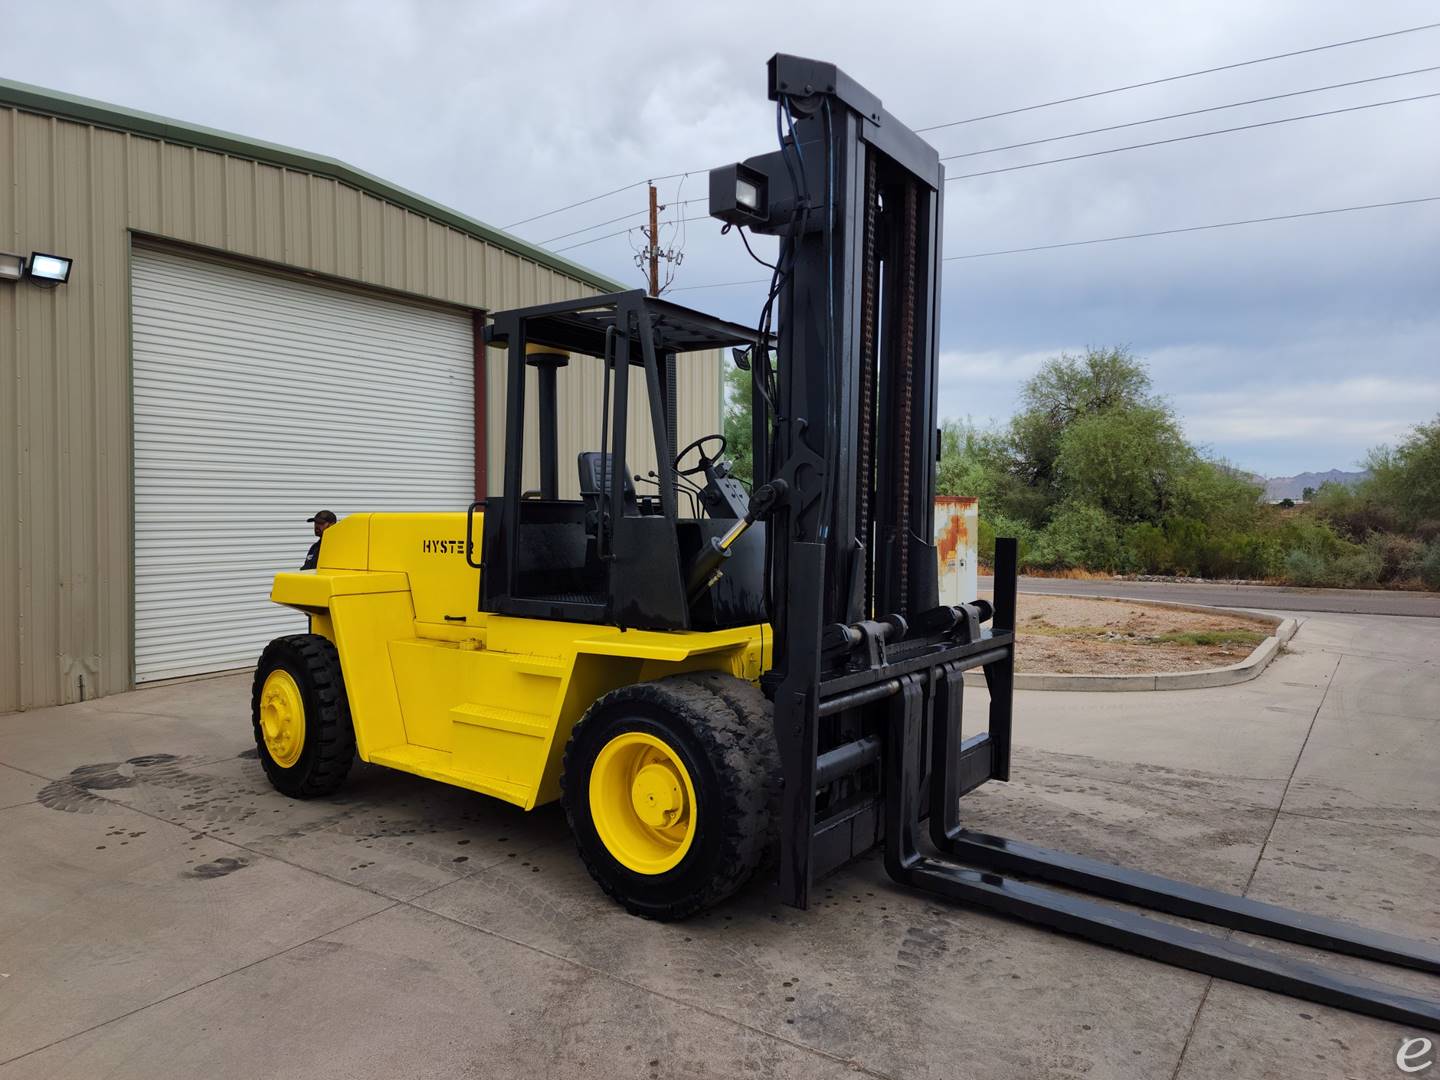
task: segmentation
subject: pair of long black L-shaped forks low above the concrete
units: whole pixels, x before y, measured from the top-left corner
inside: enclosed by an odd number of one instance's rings
[[[958,795],[984,779],[966,776],[966,743],[959,740],[962,667],[901,675],[900,683],[886,734],[886,868],[896,881],[1202,975],[1440,1031],[1440,1001],[1074,893],[1431,973],[1440,972],[1440,948],[962,828]],[[924,855],[916,845],[926,730],[935,768],[930,838],[946,857]]]

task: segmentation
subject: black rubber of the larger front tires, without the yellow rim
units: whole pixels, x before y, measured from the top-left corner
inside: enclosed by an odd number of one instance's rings
[[[720,671],[668,675],[635,683],[596,698],[575,726],[564,749],[560,773],[562,802],[570,831],[576,829],[576,804],[588,793],[573,791],[579,775],[576,737],[593,716],[626,701],[647,701],[667,708],[685,723],[720,776],[721,855],[700,888],[664,906],[639,904],[598,865],[583,844],[576,844],[590,877],[631,914],[661,922],[685,919],[734,894],[773,848],[775,792],[779,753],[770,706],[759,687]]]

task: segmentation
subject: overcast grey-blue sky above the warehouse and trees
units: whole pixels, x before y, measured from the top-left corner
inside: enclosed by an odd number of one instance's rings
[[[912,127],[1440,20],[1394,0],[7,4],[0,75],[346,160],[505,226],[775,140],[772,52],[831,59]],[[942,154],[1440,65],[1440,29],[963,124]],[[1440,92],[1440,72],[959,158],[950,176]],[[946,184],[965,255],[1440,196],[1440,96]],[[645,207],[644,187],[517,226]],[[622,220],[554,240],[606,236]],[[674,285],[756,278],[684,226]],[[677,229],[678,232],[678,229]],[[678,238],[677,238],[678,239]],[[769,245],[770,242],[762,240]],[[635,236],[566,252],[641,284]],[[763,252],[762,252],[763,253]],[[760,285],[674,298],[752,321]],[[1440,203],[948,262],[942,413],[1009,416],[1045,357],[1129,346],[1189,436],[1267,475],[1351,468],[1440,413]]]

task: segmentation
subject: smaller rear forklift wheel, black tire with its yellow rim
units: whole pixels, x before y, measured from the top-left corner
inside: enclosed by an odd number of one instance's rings
[[[333,793],[350,772],[356,733],[336,647],[318,634],[275,638],[251,691],[261,766],[292,799]]]

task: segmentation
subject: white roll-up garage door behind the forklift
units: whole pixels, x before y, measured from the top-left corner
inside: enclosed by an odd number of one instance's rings
[[[305,518],[464,510],[468,312],[168,252],[132,259],[135,681],[253,664]]]

